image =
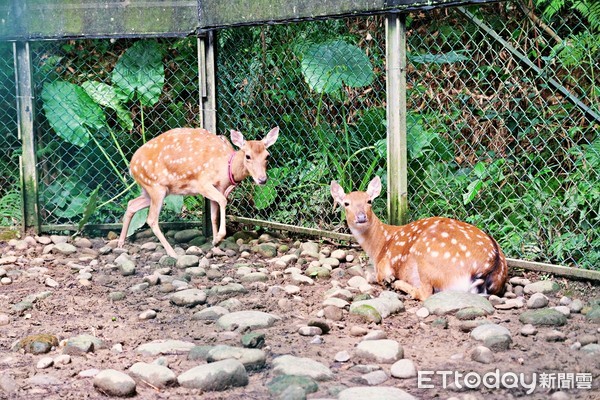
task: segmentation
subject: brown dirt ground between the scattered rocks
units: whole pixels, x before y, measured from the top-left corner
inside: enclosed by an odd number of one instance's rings
[[[158,339],[178,339],[190,341],[198,345],[228,344],[240,346],[241,334],[220,331],[213,322],[196,321],[191,316],[198,310],[215,305],[227,297],[209,296],[205,305],[194,308],[178,307],[170,303],[169,289],[162,285],[150,286],[141,292],[132,292],[130,288],[143,281],[144,276],[152,273],[157,267],[156,255],[152,251],[140,249],[145,241],[154,238],[138,240],[135,245],[127,244],[130,253],[135,254],[136,273],[123,276],[112,267],[117,254],[100,254],[100,249],[109,242],[107,239],[91,239],[91,249],[79,249],[76,253],[66,256],[62,254],[43,254],[44,245],[30,244],[26,249],[17,250],[0,242],[1,257],[16,256],[17,261],[0,265],[6,271],[12,271],[8,276],[12,283],[0,286],[0,314],[7,316],[4,325],[0,326],[0,376],[11,376],[16,383],[14,392],[7,394],[2,390],[0,382],[0,399],[104,399],[105,394],[93,386],[93,378],[81,377],[79,373],[88,369],[112,368],[119,371],[127,369],[138,361],[152,362],[152,357],[144,357],[135,352],[144,343]],[[297,238],[280,238],[277,244],[285,244],[292,252],[298,243]],[[303,241],[308,239],[303,238]],[[186,247],[185,245],[182,247]],[[338,248],[333,243],[320,242],[320,248],[333,250]],[[341,247],[339,247],[341,248]],[[353,264],[366,266],[364,255],[358,247],[343,247],[349,254],[355,255]],[[278,256],[281,256],[280,253]],[[360,260],[360,261],[359,261]],[[277,269],[264,256],[252,253],[241,260],[239,254],[234,256],[213,256],[209,259],[210,267],[217,274],[210,277],[193,277],[190,287],[208,288],[224,278],[239,282],[234,265],[239,262],[252,263],[256,267]],[[77,271],[71,263],[92,267],[92,278],[85,282],[77,276]],[[588,322],[582,314],[572,314],[568,323],[561,327],[540,327],[538,333],[523,336],[520,331],[523,324],[519,315],[526,307],[511,310],[496,310],[487,317],[498,323],[511,333],[512,344],[506,351],[494,352],[495,361],[482,364],[471,359],[471,351],[479,343],[474,341],[468,332],[458,328],[460,321],[455,316],[446,316],[444,321],[437,321],[437,316],[422,318],[416,315],[421,303],[402,295],[406,311],[384,318],[381,324],[370,323],[361,317],[352,315],[344,310],[340,321],[327,321],[331,330],[322,335],[322,343],[315,344],[313,337],[301,336],[298,327],[305,325],[307,320],[315,318],[323,309],[324,293],[332,288],[332,281],[337,280],[344,286],[351,278],[349,263],[342,263],[334,276],[316,279],[314,285],[299,285],[300,291],[295,295],[283,290],[273,290],[276,286],[289,285],[289,278],[284,274],[269,275],[269,280],[259,283],[244,283],[247,293],[236,294],[241,301],[243,310],[260,310],[281,317],[281,321],[273,327],[261,330],[266,334],[267,353],[266,368],[251,372],[249,384],[242,388],[229,389],[224,392],[200,393],[198,390],[181,387],[166,389],[153,388],[143,382],[137,384],[136,398],[140,399],[267,399],[271,398],[267,384],[273,379],[272,360],[284,354],[307,357],[330,367],[335,379],[320,382],[315,393],[308,394],[309,399],[337,398],[337,393],[344,387],[361,386],[357,379],[362,375],[351,367],[360,364],[353,358],[342,363],[335,361],[336,353],[348,351],[352,354],[355,346],[362,337],[353,336],[353,327],[364,327],[368,331],[384,331],[388,339],[398,341],[404,348],[404,358],[412,360],[419,371],[462,371],[476,372],[480,375],[493,372],[523,373],[528,381],[531,374],[591,374],[593,377],[591,389],[566,388],[553,398],[570,399],[600,399],[600,353],[586,355],[576,349],[575,343],[581,337],[595,337],[598,343],[600,325]],[[337,268],[336,268],[337,269]],[[18,272],[15,272],[18,271]],[[335,270],[334,270],[335,271]],[[183,275],[183,271],[173,269],[173,275]],[[559,299],[568,296],[571,299],[581,299],[589,304],[593,299],[600,298],[598,283],[589,281],[567,280],[554,276],[511,270],[511,276],[523,276],[531,281],[551,279],[561,286],[557,294],[549,295],[550,306],[556,306]],[[47,278],[51,277],[58,285],[49,287]],[[212,279],[211,279],[212,278]],[[383,288],[375,285],[373,296],[377,296]],[[26,296],[50,291],[52,294],[36,301],[33,308],[22,312],[13,310],[13,306]],[[109,294],[121,291],[126,294],[120,301],[109,300]],[[526,296],[526,299],[528,296]],[[140,313],[152,309],[157,312],[154,319],[141,320]],[[544,335],[552,330],[559,330],[566,335],[562,341],[547,341]],[[51,334],[59,341],[80,334],[90,334],[106,342],[106,347],[93,352],[71,356],[71,362],[65,365],[55,365],[40,370],[36,367],[42,357],[55,357],[62,353],[62,347],[57,346],[47,354],[33,355],[23,350],[13,351],[15,342],[33,334]],[[115,345],[122,346],[121,351],[115,350]],[[117,346],[119,347],[119,346]],[[190,361],[185,355],[168,355],[169,368],[177,374],[196,365],[198,361]],[[381,364],[381,368],[389,375],[390,365]],[[559,387],[551,389],[538,388],[532,394],[527,394],[519,388],[485,388],[459,390],[456,385],[443,387],[439,373],[429,375],[433,379],[433,388],[420,388],[418,378],[398,379],[390,377],[381,386],[392,386],[405,390],[420,399],[513,399],[513,398],[550,398]],[[49,374],[58,378],[58,384],[32,384],[28,380],[36,374]],[[568,375],[567,375],[568,376]],[[572,386],[572,385],[571,385]],[[560,397],[563,396],[563,397]],[[375,400],[375,399],[373,399]]]

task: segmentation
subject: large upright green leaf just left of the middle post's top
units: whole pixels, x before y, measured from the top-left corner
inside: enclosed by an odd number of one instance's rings
[[[165,69],[158,43],[153,40],[135,42],[117,61],[112,81],[127,98],[133,99],[137,95],[145,106],[156,104],[165,83]]]

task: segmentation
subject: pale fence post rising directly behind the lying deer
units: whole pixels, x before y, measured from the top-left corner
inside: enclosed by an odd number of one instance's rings
[[[408,219],[406,147],[406,27],[403,14],[386,17],[388,220]]]

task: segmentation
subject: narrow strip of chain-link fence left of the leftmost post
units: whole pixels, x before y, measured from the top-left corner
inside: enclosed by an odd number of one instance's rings
[[[0,228],[23,222],[12,43],[0,42]]]

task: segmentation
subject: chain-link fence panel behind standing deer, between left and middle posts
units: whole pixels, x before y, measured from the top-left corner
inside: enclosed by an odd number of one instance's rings
[[[198,125],[196,39],[73,40],[32,46],[42,225],[123,217],[139,195],[128,165],[145,141]]]

